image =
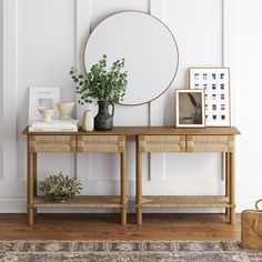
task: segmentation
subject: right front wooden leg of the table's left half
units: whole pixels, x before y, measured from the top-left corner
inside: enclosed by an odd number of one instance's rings
[[[125,165],[125,148],[120,155],[121,162],[121,223],[127,224],[127,165]]]

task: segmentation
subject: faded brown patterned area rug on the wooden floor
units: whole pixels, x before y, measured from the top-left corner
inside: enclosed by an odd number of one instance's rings
[[[258,262],[230,241],[0,241],[1,262]]]

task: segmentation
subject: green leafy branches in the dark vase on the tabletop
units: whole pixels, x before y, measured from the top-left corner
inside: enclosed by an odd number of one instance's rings
[[[128,85],[128,72],[122,72],[124,59],[113,62],[107,70],[107,56],[93,64],[87,74],[81,74],[75,68],[71,68],[70,74],[75,82],[79,103],[91,103],[92,99],[98,101],[119,102],[123,100]]]

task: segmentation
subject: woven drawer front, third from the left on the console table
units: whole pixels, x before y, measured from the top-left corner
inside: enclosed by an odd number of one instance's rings
[[[185,135],[140,135],[140,152],[184,152]]]

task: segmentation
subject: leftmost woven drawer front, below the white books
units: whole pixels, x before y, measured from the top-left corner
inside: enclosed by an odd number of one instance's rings
[[[75,135],[29,135],[29,152],[74,152]]]

